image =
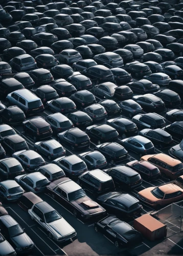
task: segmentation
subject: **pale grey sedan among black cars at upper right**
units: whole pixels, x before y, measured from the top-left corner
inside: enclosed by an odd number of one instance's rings
[[[150,76],[147,75],[143,78],[151,81],[152,83],[158,84],[158,86],[167,86],[172,80],[167,74],[161,72],[151,74]]]

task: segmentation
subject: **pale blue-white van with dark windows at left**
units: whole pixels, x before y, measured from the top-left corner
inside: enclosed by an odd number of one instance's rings
[[[35,115],[44,111],[40,98],[28,89],[16,90],[6,97],[8,104],[17,105],[26,115]]]

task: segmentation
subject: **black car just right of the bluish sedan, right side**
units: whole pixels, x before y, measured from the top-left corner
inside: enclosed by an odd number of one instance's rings
[[[173,142],[172,136],[162,129],[144,129],[139,132],[139,135],[151,140],[158,147],[166,147]]]

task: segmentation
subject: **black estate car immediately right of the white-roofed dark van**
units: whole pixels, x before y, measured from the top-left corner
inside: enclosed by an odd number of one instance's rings
[[[131,190],[142,185],[142,178],[140,174],[124,165],[118,165],[110,169],[106,169],[104,172],[112,177],[116,186],[125,190]]]

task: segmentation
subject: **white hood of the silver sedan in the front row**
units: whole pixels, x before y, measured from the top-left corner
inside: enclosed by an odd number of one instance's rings
[[[75,231],[74,228],[70,226],[70,224],[68,224],[63,218],[49,223],[48,225],[52,227],[62,237],[67,236],[67,234]]]

